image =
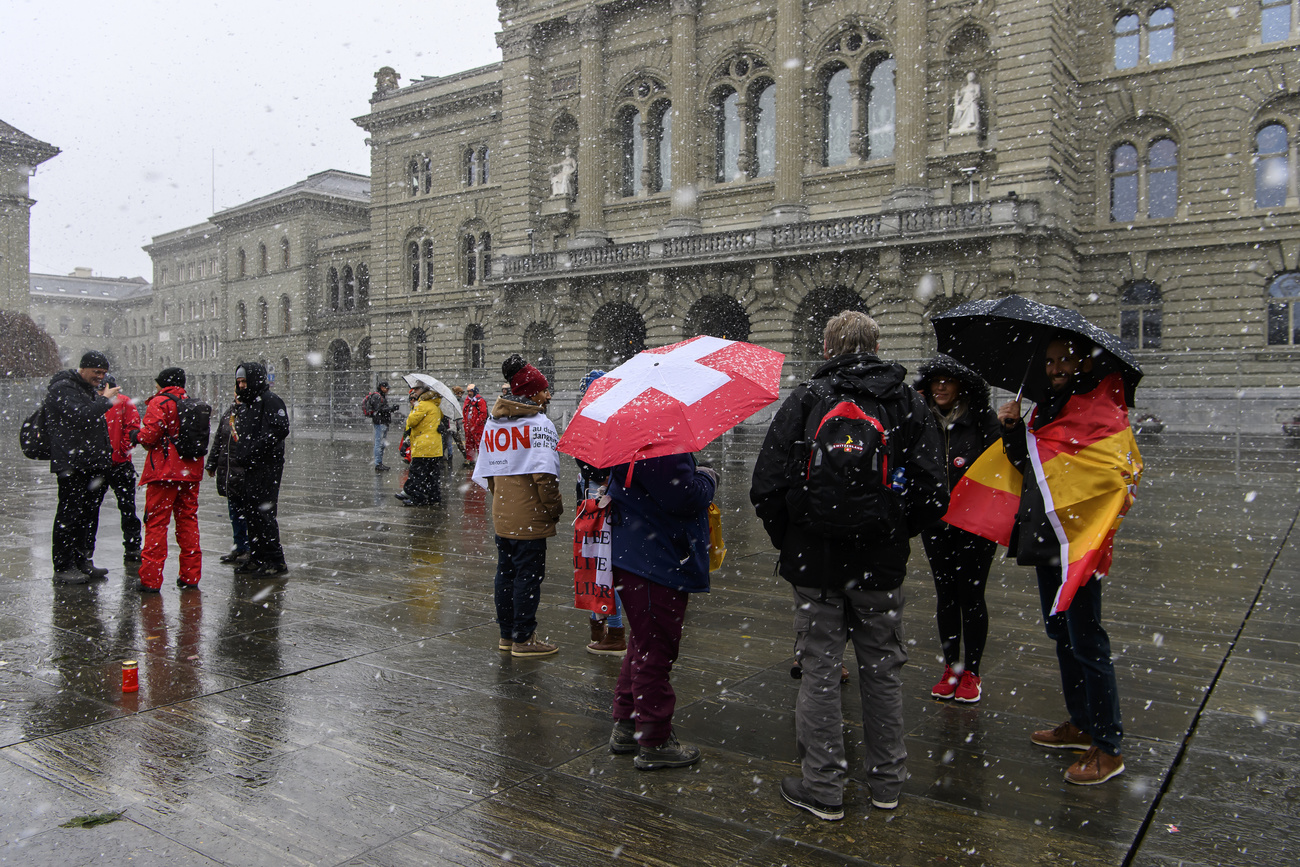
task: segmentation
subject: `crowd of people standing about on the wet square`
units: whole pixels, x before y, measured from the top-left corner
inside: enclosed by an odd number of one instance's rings
[[[749,490],[793,598],[801,773],[780,784],[792,806],[826,820],[844,816],[848,760],[840,688],[850,680],[844,667],[850,641],[870,802],[881,810],[898,805],[907,759],[904,580],[910,539],[918,536],[933,573],[944,660],[931,694],[965,703],[982,699],[980,660],[989,630],[984,591],[997,543],[942,519],[954,490],[961,497],[963,476],[989,455],[1022,473],[1009,555],[1037,572],[1069,711],[1067,720],[1030,737],[1039,746],[1082,751],[1065,772],[1069,783],[1100,784],[1123,772],[1118,689],[1100,617],[1102,575],[1086,576],[1069,606],[1057,608],[1062,546],[1034,452],[1035,435],[1045,426],[1062,420],[1087,424],[1096,411],[1096,402],[1084,399],[1100,387],[1091,350],[1067,333],[1045,344],[1037,363],[1049,391],[1026,421],[1019,400],[994,412],[984,381],[950,357],[936,356],[909,382],[902,365],[880,357],[879,326],[863,313],[845,311],[827,324],[824,363],[779,407]],[[289,416],[270,391],[265,369],[246,363],[235,370],[235,400],[216,419],[205,461],[182,448],[191,403],[183,370],[168,368],[157,376],[143,417],[107,373],[108,360],[87,352],[78,370],[60,372],[49,383],[44,424],[51,472],[58,477],[55,581],[104,576],[91,556],[100,500],[110,486],[122,515],[126,559],[140,564],[140,591],[157,591],[162,584],[172,519],[178,584],[198,586],[196,504],[204,471],[229,500],[234,546],[222,560],[235,563],[243,575],[285,573],[276,512]],[[559,647],[540,637],[537,610],[546,542],[564,511],[559,435],[546,415],[552,389],[519,355],[506,359],[502,373],[507,385],[490,408],[474,385],[456,393],[455,407],[428,382],[412,385],[403,425],[410,473],[396,497],[404,506],[439,503],[441,464],[450,442],[460,445],[473,481],[491,499],[498,649],[514,658],[546,658]],[[602,376],[593,370],[581,390]],[[381,382],[363,404],[374,425],[376,472],[387,469],[386,434],[398,411],[387,395],[389,386]],[[451,416],[460,417],[463,442]],[[134,520],[135,445],[147,452],[139,478],[146,487],[143,541]],[[578,502],[599,502],[608,510],[616,599],[610,611],[592,614],[586,649],[621,655],[608,747],[616,755],[634,755],[638,770],[680,768],[701,758],[699,749],[680,742],[673,729],[671,672],[690,594],[710,590],[707,510],[719,481],[692,454],[604,468],[578,461]]]

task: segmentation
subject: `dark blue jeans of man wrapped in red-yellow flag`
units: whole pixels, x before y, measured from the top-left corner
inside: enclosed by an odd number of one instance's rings
[[[1119,716],[1119,688],[1110,662],[1110,637],[1101,627],[1101,578],[1092,576],[1074,594],[1065,614],[1050,615],[1061,567],[1040,565],[1039,598],[1048,638],[1056,642],[1061,666],[1061,689],[1070,721],[1092,736],[1093,746],[1119,755],[1123,721]]]

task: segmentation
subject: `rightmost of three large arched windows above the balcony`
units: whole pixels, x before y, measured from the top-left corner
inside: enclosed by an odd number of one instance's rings
[[[827,43],[823,53],[827,56],[820,74],[823,165],[892,157],[897,64],[880,36],[850,27]]]

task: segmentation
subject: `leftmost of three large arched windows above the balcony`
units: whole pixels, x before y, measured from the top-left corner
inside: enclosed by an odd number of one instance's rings
[[[619,130],[619,195],[660,192],[672,183],[672,112],[668,91],[644,75],[623,88]]]

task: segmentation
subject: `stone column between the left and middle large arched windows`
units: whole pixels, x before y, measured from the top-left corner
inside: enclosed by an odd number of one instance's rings
[[[699,231],[698,14],[699,0],[672,0],[672,212],[666,235]]]

